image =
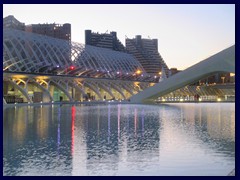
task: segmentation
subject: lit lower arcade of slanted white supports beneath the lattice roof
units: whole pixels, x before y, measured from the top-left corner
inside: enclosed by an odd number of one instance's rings
[[[78,102],[83,100],[127,100],[147,88],[149,82],[115,79],[79,78],[59,75],[3,73],[3,104],[12,97],[22,102]],[[37,98],[39,96],[39,98]],[[62,99],[60,99],[62,97]],[[94,97],[94,98],[93,98]],[[37,98],[37,99],[36,99]],[[10,102],[13,103],[13,102]]]

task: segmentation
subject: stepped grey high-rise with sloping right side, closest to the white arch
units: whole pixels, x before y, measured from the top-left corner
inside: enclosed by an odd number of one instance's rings
[[[168,76],[168,66],[158,52],[157,39],[142,39],[137,35],[126,39],[126,50],[133,54],[147,73],[154,76]]]

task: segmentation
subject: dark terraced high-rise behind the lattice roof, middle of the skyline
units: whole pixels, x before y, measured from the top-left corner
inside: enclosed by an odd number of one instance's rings
[[[124,45],[117,38],[117,32],[114,31],[109,34],[107,32],[99,34],[85,30],[85,44],[125,52]]]

